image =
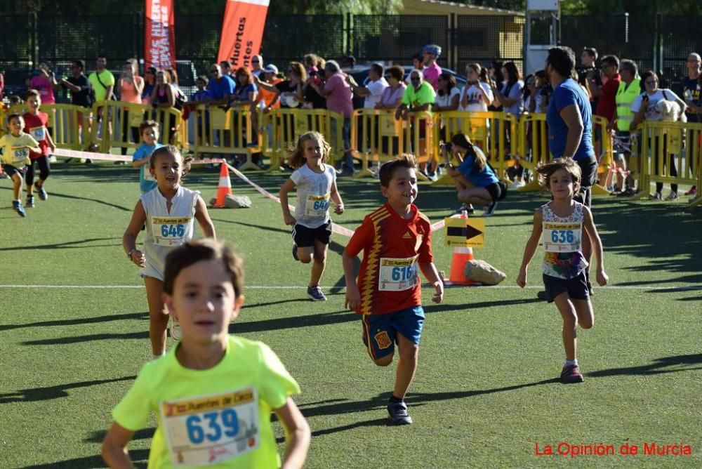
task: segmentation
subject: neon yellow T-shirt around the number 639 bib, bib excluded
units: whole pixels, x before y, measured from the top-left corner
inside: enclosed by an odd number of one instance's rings
[[[258,396],[258,447],[227,461],[208,464],[206,467],[279,468],[281,461],[270,423],[270,414],[273,409],[283,407],[289,395],[299,393],[300,387],[277,355],[264,343],[230,336],[225,355],[216,366],[208,370],[194,370],[184,368],[178,362],[176,348],[172,348],[165,357],[145,364],[131,389],[112,411],[114,421],[132,431],[144,428],[152,411],[157,414],[158,428],[152,440],[148,467],[176,467],[166,441],[168,430],[164,430],[164,414],[161,413],[167,406],[164,402],[186,401],[201,404],[204,401],[211,402],[212,396],[231,396],[236,395],[239,390],[249,389],[255,390]],[[255,406],[252,405],[252,407]],[[204,414],[200,415],[208,417],[216,414],[216,410],[212,412],[212,409],[213,407],[208,407],[203,411]],[[251,409],[249,409],[250,412]],[[197,427],[195,430],[198,432],[195,436],[199,436],[201,440],[204,440],[206,435],[221,434],[223,432],[220,430],[223,429],[226,431],[222,421],[213,423],[214,421],[208,418],[200,418],[200,416],[194,418],[197,419],[194,426]],[[230,423],[231,420],[230,418]],[[242,422],[236,418],[234,421],[237,427]],[[169,424],[166,423],[166,425]],[[191,430],[192,427],[189,424],[187,430],[189,435]],[[241,430],[246,428],[242,427]]]

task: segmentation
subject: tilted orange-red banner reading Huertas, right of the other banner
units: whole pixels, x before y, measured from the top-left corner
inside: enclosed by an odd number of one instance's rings
[[[232,67],[249,67],[258,54],[270,0],[227,0],[217,61]]]

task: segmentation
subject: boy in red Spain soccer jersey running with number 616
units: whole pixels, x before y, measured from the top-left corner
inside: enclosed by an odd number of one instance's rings
[[[417,368],[424,324],[418,270],[441,303],[444,284],[433,263],[431,223],[412,202],[417,197],[416,157],[402,154],[380,166],[380,192],[388,202],[364,218],[343,253],[346,305],[363,315],[363,341],[378,366],[399,350],[395,389],[388,399],[392,423],[412,423],[404,402]],[[364,251],[358,283],[354,260]]]

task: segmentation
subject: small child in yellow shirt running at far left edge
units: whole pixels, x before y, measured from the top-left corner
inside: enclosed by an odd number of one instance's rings
[[[6,133],[0,138],[0,148],[3,150],[2,161],[4,171],[13,182],[12,208],[19,216],[25,217],[25,207],[22,206],[20,196],[22,195],[22,185],[25,182],[27,165],[31,164],[29,152],[40,153],[39,143],[29,133],[22,131],[25,126],[25,119],[18,113],[10,114],[7,117],[7,126],[10,133]]]

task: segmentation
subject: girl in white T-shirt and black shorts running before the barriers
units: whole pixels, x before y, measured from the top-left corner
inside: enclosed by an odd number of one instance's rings
[[[291,166],[297,169],[280,188],[283,219],[286,225],[293,226],[293,258],[305,264],[313,262],[307,296],[314,301],[326,300],[319,280],[331,235],[329,200],[336,205],[336,213],[344,213],[344,203],[336,190],[336,170],[324,164],[330,151],[321,133],[303,133],[289,156]],[[288,206],[288,192],[293,189],[297,190],[295,216]]]

